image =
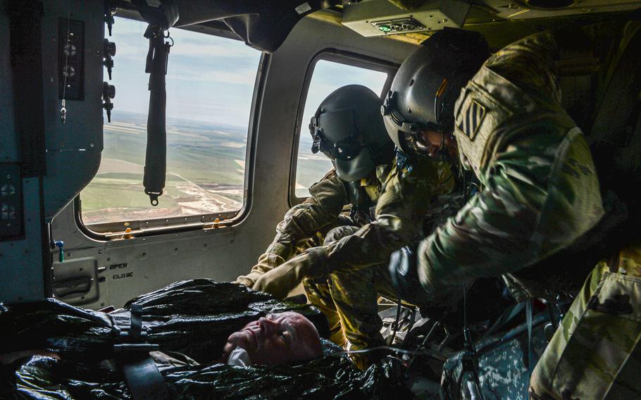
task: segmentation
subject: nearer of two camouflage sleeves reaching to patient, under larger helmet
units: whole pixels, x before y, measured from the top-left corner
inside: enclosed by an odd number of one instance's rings
[[[303,277],[323,278],[338,270],[356,270],[387,263],[393,251],[423,237],[430,199],[449,194],[455,180],[451,165],[426,158],[411,170],[394,165],[378,168],[383,182],[373,222],[337,242],[306,249],[270,271],[254,289],[285,296]],[[287,271],[287,273],[285,272]]]

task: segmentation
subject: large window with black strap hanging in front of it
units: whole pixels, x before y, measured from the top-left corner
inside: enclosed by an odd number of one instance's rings
[[[110,82],[116,86],[115,107],[111,123],[104,121],[98,173],[80,193],[82,222],[97,232],[122,231],[130,221],[152,226],[160,218],[163,223],[202,222],[206,215],[223,219],[245,201],[249,115],[261,52],[233,39],[170,30],[175,46],[167,71],[166,187],[154,207],[142,186],[149,106],[146,27],[118,18],[110,38],[118,45]]]

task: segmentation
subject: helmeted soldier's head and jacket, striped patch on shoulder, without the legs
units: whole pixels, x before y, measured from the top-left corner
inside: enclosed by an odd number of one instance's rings
[[[523,299],[528,288],[511,273],[572,244],[604,210],[585,137],[559,103],[554,35],[522,39],[473,70],[460,55],[470,57],[479,42],[462,30],[432,35],[394,78],[385,123],[407,151],[458,146],[463,168],[482,185],[421,242],[423,289],[437,294],[503,275]]]

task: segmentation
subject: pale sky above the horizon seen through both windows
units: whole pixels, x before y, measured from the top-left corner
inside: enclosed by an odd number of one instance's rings
[[[115,121],[118,110],[147,114],[149,75],[144,68],[149,42],[143,37],[146,28],[147,23],[116,18],[113,35],[108,38],[116,42],[110,82],[116,86]],[[170,36],[174,46],[170,49],[166,77],[167,117],[247,130],[261,52],[239,40],[199,32],[171,29]],[[301,124],[299,158],[318,160],[320,178],[331,164],[323,154],[312,154],[310,150],[307,125],[316,108],[328,94],[344,85],[364,85],[381,94],[387,74],[323,59],[313,68]]]

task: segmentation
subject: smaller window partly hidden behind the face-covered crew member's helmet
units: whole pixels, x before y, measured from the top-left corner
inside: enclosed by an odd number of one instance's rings
[[[319,60],[313,66],[313,75],[309,82],[307,99],[303,111],[299,146],[296,163],[296,180],[294,195],[297,198],[309,196],[309,188],[318,182],[332,168],[332,163],[323,153],[311,152],[312,138],[307,125],[316,112],[318,104],[331,92],[345,85],[363,85],[373,92],[382,94],[390,73],[373,70],[356,65],[349,65],[329,60]]]

